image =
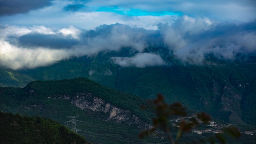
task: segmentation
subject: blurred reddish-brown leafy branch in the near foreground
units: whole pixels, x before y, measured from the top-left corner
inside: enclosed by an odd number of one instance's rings
[[[190,132],[192,127],[199,125],[198,120],[204,124],[207,124],[211,120],[211,116],[204,112],[197,113],[196,118],[191,117],[189,120],[181,120],[179,123],[179,131],[177,132],[174,140],[173,136],[171,135],[172,129],[169,127],[171,117],[187,116],[186,107],[183,107],[180,102],[174,102],[173,104],[165,103],[164,96],[161,94],[158,94],[157,98],[153,101],[149,100],[148,103],[155,110],[156,117],[152,118],[153,128],[140,132],[138,135],[139,138],[144,138],[145,136],[152,134],[152,132],[157,132],[160,130],[167,134],[168,141],[170,141],[171,144],[177,144],[183,133]],[[144,105],[141,107],[147,108]],[[239,130],[235,126],[228,126],[222,130],[225,134],[232,138],[239,138],[241,136]],[[226,143],[226,139],[223,134],[217,133],[213,137],[209,137],[206,140],[199,140],[199,143],[215,144],[217,142],[220,142],[221,144]]]

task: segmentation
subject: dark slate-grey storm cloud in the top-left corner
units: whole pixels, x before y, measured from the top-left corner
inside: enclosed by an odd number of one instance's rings
[[[25,13],[50,5],[51,0],[0,0],[0,16]]]

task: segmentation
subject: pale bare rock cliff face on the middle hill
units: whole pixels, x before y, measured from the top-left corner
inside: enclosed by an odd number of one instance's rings
[[[108,115],[105,120],[135,125],[140,129],[152,128],[152,125],[143,122],[143,120],[132,114],[131,111],[118,108],[90,93],[77,93],[75,96],[62,95],[59,98],[69,99],[72,104],[82,110],[103,112]]]

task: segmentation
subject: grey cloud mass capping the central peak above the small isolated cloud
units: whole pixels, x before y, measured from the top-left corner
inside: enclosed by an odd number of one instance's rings
[[[104,50],[119,50],[122,47],[131,47],[138,52],[144,50],[147,38],[154,31],[141,28],[131,28],[127,25],[101,25],[95,30],[89,30],[82,34],[85,43],[91,48]]]

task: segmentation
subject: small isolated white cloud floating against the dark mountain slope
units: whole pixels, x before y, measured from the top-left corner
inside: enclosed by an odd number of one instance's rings
[[[112,57],[112,61],[122,67],[150,67],[166,65],[161,56],[154,53],[137,53],[132,57]]]

